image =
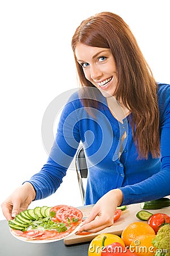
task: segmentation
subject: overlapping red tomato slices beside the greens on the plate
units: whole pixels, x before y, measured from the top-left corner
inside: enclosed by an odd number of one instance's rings
[[[50,213],[55,212],[55,216],[52,217],[54,222],[79,222],[82,221],[83,213],[75,208],[67,205],[57,205],[50,209]]]

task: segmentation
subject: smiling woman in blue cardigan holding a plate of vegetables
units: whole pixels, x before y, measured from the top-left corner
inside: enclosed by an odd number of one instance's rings
[[[63,109],[48,162],[2,210],[9,220],[32,200],[54,193],[82,141],[85,201],[95,206],[79,232],[98,232],[113,224],[118,205],[170,194],[170,87],[156,83],[128,25],[116,14],[84,20],[72,48],[82,89]]]

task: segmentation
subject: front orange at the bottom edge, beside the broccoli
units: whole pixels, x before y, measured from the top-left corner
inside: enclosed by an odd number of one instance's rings
[[[131,242],[129,249],[139,256],[152,256],[156,253],[156,247],[152,245],[152,239],[156,234],[143,234]]]

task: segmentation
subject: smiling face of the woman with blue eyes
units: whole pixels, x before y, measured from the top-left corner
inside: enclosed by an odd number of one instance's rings
[[[78,63],[84,76],[95,85],[104,97],[111,97],[117,86],[117,70],[111,49],[78,43],[75,47]]]

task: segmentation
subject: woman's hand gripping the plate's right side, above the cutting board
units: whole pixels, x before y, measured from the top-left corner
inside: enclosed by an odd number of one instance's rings
[[[102,196],[92,208],[90,215],[76,232],[99,232],[113,225],[114,212],[121,205],[123,194],[120,189],[113,189]]]

